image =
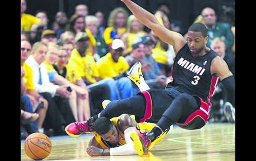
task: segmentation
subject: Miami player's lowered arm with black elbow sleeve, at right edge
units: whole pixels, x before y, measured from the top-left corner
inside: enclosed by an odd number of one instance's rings
[[[219,77],[220,81],[226,88],[231,103],[235,106],[235,79],[228,69],[227,63],[219,56],[216,56],[211,62],[211,74]]]

